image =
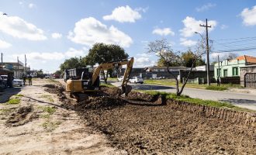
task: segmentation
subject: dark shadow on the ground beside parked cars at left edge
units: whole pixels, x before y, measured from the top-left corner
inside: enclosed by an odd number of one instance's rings
[[[0,91],[0,103],[8,102],[9,98],[12,97],[12,95],[16,95],[21,91],[23,87],[16,87],[16,88],[5,88]]]

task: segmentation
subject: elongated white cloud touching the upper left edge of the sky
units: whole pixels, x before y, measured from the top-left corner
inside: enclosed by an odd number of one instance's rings
[[[0,31],[3,33],[26,40],[47,40],[43,30],[38,29],[35,25],[18,16],[2,15],[2,12],[0,14]]]

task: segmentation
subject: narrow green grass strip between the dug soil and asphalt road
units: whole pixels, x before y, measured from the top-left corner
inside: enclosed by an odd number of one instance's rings
[[[166,98],[175,99],[176,101],[182,101],[182,102],[189,102],[195,105],[207,105],[217,108],[229,108],[235,111],[243,111],[243,112],[254,112],[253,110],[247,109],[247,108],[240,108],[235,105],[232,105],[228,102],[218,102],[213,100],[203,100],[199,98],[190,98],[188,95],[181,95],[177,96],[174,93],[166,93],[166,92],[160,92],[160,91],[140,91],[143,93],[146,93],[148,95],[164,95]]]

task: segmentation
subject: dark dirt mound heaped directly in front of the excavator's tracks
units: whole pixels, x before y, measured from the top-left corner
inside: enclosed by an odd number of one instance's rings
[[[89,98],[88,100],[79,102],[78,105],[76,105],[76,108],[78,110],[109,110],[123,105],[126,105],[126,102],[121,98],[103,96]]]

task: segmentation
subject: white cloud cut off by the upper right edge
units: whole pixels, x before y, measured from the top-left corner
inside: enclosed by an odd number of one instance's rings
[[[256,5],[252,9],[244,9],[240,13],[243,23],[245,26],[255,26],[256,25]]]

